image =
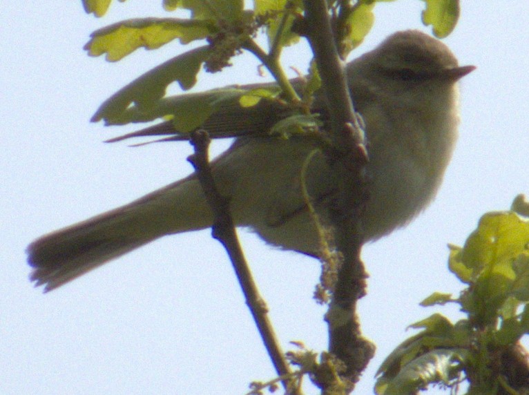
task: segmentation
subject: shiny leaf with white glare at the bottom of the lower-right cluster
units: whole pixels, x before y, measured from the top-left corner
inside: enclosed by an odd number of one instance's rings
[[[450,383],[463,368],[468,356],[465,349],[436,349],[407,363],[388,380],[385,376],[376,382],[378,395],[407,395],[434,383]]]

